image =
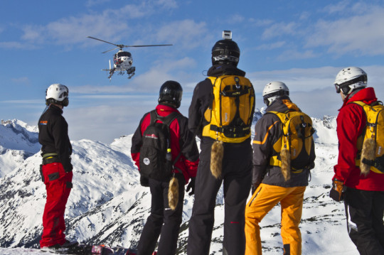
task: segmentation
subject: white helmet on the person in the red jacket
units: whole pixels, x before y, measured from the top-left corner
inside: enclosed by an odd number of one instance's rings
[[[359,67],[346,67],[336,75],[336,92],[348,95],[353,90],[367,86],[367,74]]]

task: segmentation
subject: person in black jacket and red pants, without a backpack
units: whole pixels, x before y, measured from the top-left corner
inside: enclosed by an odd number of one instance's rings
[[[72,146],[63,107],[68,106],[68,87],[53,84],[46,90],[47,109],[38,120],[38,141],[41,143],[41,176],[47,190],[43,213],[43,251],[64,252],[77,242],[65,239],[65,205],[72,188]]]

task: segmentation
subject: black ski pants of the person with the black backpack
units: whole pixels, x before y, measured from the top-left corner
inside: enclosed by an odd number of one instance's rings
[[[151,215],[146,219],[146,224],[137,245],[138,255],[151,255],[156,248],[156,242],[160,234],[157,254],[176,254],[178,230],[180,229],[183,213],[184,185],[186,183],[182,174],[176,173],[176,178],[178,179],[178,204],[174,211],[169,208],[168,203],[169,181],[161,182],[149,179],[152,196]]]

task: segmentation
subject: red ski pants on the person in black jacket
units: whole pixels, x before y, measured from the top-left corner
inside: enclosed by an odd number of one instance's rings
[[[72,188],[73,173],[65,173],[61,163],[46,164],[42,171],[47,201],[43,213],[43,235],[40,246],[62,245],[65,243],[65,205]]]

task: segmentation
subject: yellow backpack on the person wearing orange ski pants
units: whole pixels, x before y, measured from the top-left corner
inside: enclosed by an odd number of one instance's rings
[[[267,112],[275,114],[281,121],[283,135],[274,143],[276,156],[270,158],[271,166],[279,166],[285,180],[289,180],[290,173],[301,173],[309,167],[314,158],[311,158],[313,134],[312,119],[304,112]]]

